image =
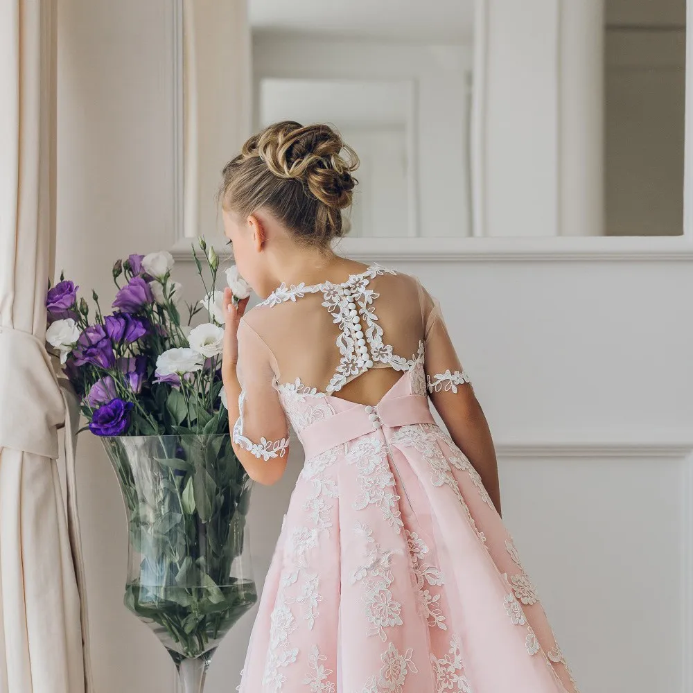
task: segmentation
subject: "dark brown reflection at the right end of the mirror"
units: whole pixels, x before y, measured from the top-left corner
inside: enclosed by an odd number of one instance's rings
[[[606,234],[683,234],[685,0],[606,0]]]

